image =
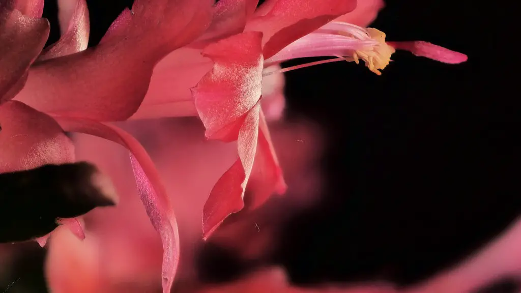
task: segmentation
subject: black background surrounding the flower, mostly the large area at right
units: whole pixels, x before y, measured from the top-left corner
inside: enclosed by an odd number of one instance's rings
[[[90,45],[132,3],[87,2]],[[52,43],[59,38],[56,4],[45,5]],[[518,94],[510,93],[518,88],[516,57],[495,22],[499,9],[471,0],[388,0],[371,26],[387,40],[424,40],[465,53],[462,65],[397,52],[382,76],[345,62],[286,74],[288,117],[317,121],[331,142],[325,200],[289,223],[273,260],[294,282],[418,282],[520,214]],[[43,282],[42,253],[20,262],[34,286]],[[210,258],[216,261],[202,270],[215,270],[214,279],[239,273],[233,258]]]

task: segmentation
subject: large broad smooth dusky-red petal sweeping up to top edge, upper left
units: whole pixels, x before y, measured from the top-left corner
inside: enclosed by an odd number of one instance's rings
[[[148,2],[135,1],[132,13],[123,11],[95,48],[35,64],[16,100],[55,115],[130,117],[156,63],[196,39],[211,17],[209,0]]]

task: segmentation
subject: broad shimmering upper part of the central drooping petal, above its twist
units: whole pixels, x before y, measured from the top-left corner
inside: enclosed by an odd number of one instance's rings
[[[261,97],[262,34],[246,32],[209,45],[203,56],[215,63],[192,89],[206,137],[237,139],[242,119]]]

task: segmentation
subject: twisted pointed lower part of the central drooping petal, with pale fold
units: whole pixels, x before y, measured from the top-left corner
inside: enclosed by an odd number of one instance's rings
[[[219,178],[204,205],[203,237],[205,240],[226,217],[242,210],[244,206],[244,189],[255,158],[260,107],[257,103],[245,115],[237,140],[239,160]]]

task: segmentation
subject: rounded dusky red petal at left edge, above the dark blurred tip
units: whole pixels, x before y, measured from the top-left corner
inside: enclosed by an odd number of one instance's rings
[[[16,101],[0,105],[0,173],[74,161],[74,146],[56,121]]]

